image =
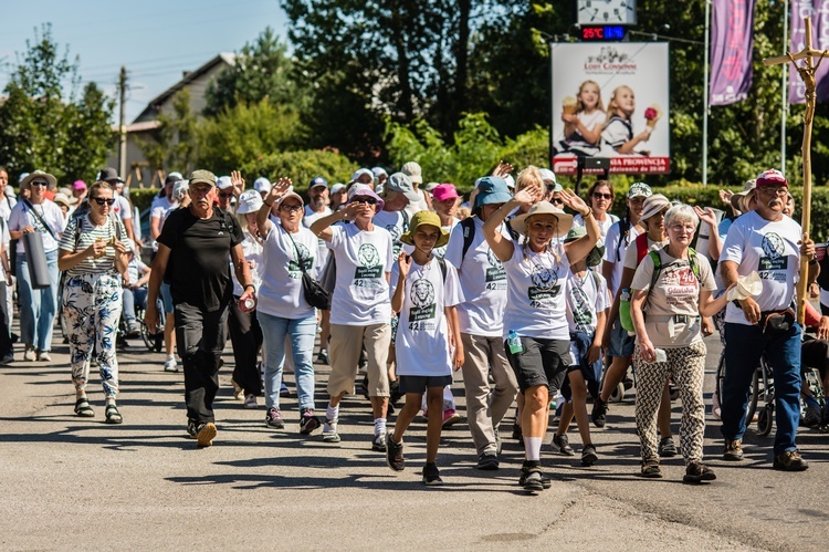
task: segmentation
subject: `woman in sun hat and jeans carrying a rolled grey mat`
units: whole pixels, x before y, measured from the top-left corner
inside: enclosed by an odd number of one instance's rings
[[[28,191],[29,198],[22,199],[11,210],[9,217],[9,236],[18,241],[15,274],[20,294],[20,339],[25,346],[24,361],[51,361],[52,326],[57,312],[57,244],[66,226],[63,211],[46,199],[46,189],[56,186],[54,176],[35,170],[27,176],[20,185],[21,191]],[[23,194],[21,194],[23,196]],[[40,232],[43,239],[43,251],[46,253],[49,287],[32,287],[29,273],[29,261],[23,248],[23,235]]]

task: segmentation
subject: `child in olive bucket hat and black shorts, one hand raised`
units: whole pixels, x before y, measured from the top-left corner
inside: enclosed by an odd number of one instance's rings
[[[463,302],[463,293],[454,268],[432,253],[432,249],[449,242],[449,233],[436,213],[414,213],[410,230],[400,241],[414,246],[411,256],[401,253],[398,258],[400,275],[391,299],[392,310],[400,312],[397,375],[406,405],[397,416],[393,434],[386,438],[386,462],[395,471],[406,467],[403,433],[420,410],[426,393],[429,425],[423,483],[442,485],[436,460],[443,426],[443,388],[452,383],[452,369],[463,365],[455,311],[455,305]]]

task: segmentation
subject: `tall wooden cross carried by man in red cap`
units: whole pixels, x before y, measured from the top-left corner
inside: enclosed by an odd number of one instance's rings
[[[806,111],[804,112],[804,143],[800,153],[804,157],[804,198],[802,198],[802,219],[800,226],[804,231],[804,239],[809,237],[809,225],[811,222],[811,124],[815,118],[815,103],[817,95],[815,90],[817,88],[817,81],[815,80],[815,73],[823,60],[823,56],[829,55],[829,51],[812,50],[811,48],[811,18],[804,20],[804,29],[806,33],[806,43],[804,49],[797,53],[789,53],[787,55],[780,55],[777,58],[767,58],[763,60],[763,64],[766,66],[780,65],[783,63],[794,63],[795,69],[800,74],[800,79],[806,84]],[[815,58],[818,58],[818,64],[815,65]],[[804,65],[798,65],[797,60],[806,60]],[[800,263],[800,281],[797,284],[797,321],[800,325],[804,324],[806,319],[806,301],[808,298],[808,281],[809,281],[809,264],[807,262]]]

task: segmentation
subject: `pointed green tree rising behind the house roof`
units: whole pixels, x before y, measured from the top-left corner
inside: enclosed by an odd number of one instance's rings
[[[242,46],[233,66],[209,84],[203,115],[214,117],[237,104],[252,105],[265,98],[300,108],[303,97],[293,79],[287,46],[266,27],[255,41]]]

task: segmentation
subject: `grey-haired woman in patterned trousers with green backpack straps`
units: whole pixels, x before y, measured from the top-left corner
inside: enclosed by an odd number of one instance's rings
[[[671,378],[682,398],[683,481],[693,483],[716,479],[714,471],[702,462],[706,348],[700,316],[712,316],[726,304],[726,294],[713,299],[716,284],[709,260],[690,247],[699,223],[699,217],[688,205],[676,205],[665,212],[668,244],[642,259],[633,275],[630,300],[637,335],[636,418],[641,475],[662,477],[657,452],[657,410],[662,389]]]

